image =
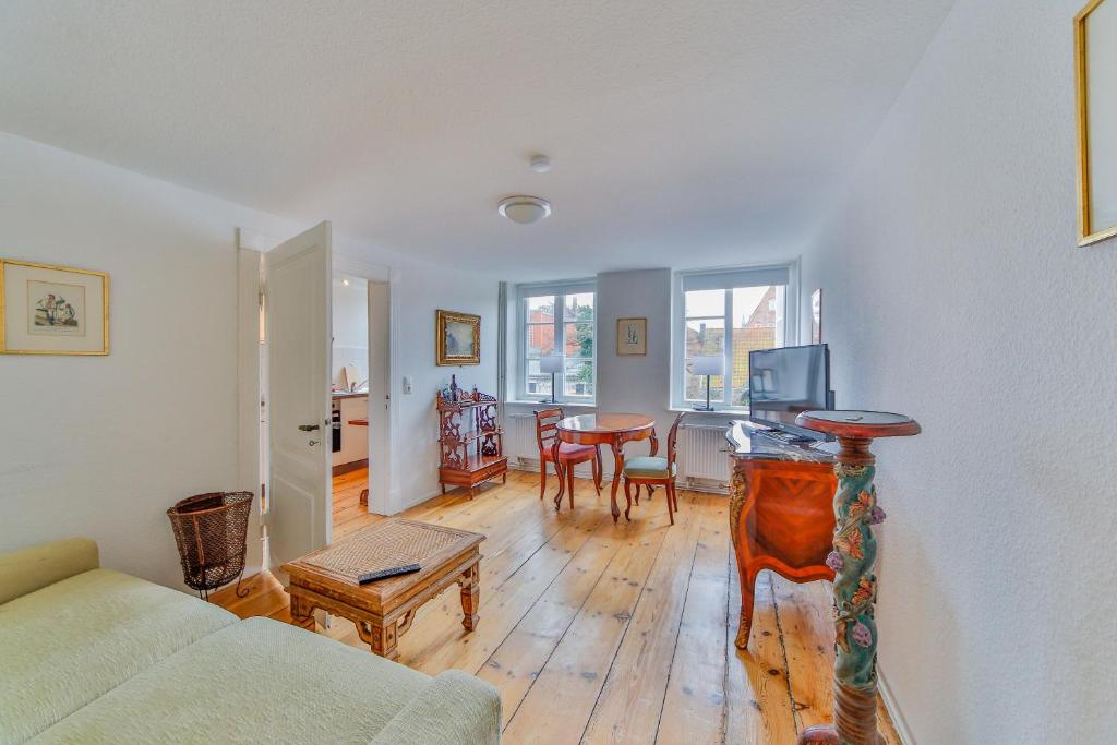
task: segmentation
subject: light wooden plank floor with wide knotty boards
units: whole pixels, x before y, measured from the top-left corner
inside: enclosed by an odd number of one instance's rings
[[[334,479],[334,539],[380,519],[357,504],[366,479]],[[548,493],[554,494],[552,478]],[[608,487],[608,484],[605,485]],[[739,588],[728,499],[681,491],[668,524],[661,494],[613,525],[609,496],[576,481],[575,509],[540,500],[535,474],[439,496],[403,516],[484,533],[480,621],[460,623],[457,592],[424,605],[400,637],[400,661],[475,674],[500,691],[504,742],[792,744],[831,716],[829,588],[763,573],[748,649],[733,646]],[[623,505],[622,505],[623,506]],[[213,595],[241,618],[289,621],[270,574]],[[331,637],[363,647],[351,623]],[[371,652],[370,652],[371,653]],[[899,739],[881,710],[886,742]]]

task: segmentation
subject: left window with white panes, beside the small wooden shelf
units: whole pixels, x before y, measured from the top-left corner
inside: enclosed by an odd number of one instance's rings
[[[558,401],[592,403],[595,393],[594,365],[595,286],[592,280],[521,285],[519,397],[550,400],[550,372],[543,357],[560,357],[554,381]]]

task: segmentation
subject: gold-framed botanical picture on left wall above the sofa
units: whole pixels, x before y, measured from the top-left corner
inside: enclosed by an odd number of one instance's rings
[[[0,353],[108,354],[108,275],[0,259]]]

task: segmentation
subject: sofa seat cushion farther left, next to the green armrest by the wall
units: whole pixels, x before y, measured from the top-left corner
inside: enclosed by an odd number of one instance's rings
[[[0,743],[19,743],[237,617],[93,570],[0,605]]]

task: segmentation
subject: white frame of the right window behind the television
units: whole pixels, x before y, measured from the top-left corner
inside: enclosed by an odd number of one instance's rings
[[[737,275],[738,279],[744,277],[747,278],[750,275],[754,275],[757,278],[763,275],[771,275],[773,271],[786,271],[787,284],[784,290],[784,308],[783,308],[783,345],[784,346],[795,346],[800,343],[800,324],[799,324],[799,313],[800,313],[800,264],[799,259],[794,261],[787,261],[784,264],[763,264],[753,266],[735,266],[735,267],[720,267],[716,269],[701,269],[694,271],[677,271],[672,278],[671,287],[671,408],[678,410],[693,410],[695,401],[690,401],[686,398],[686,329],[687,329],[687,309],[686,309],[686,294],[682,289],[685,285],[685,279],[687,277],[709,277],[712,279],[718,279],[722,277],[727,278]],[[724,413],[739,413],[747,414],[747,407],[734,405],[732,403],[733,395],[733,288],[735,287],[763,287],[765,285],[771,285],[773,283],[757,283],[754,285],[747,284],[733,284],[727,286],[725,293],[725,311],[724,315],[720,316],[722,322],[725,324],[724,342],[723,342],[723,354],[725,355],[725,370],[726,374],[723,376],[722,384],[722,398],[720,400],[710,399],[710,405],[716,412]],[[706,316],[701,316],[705,318]],[[709,316],[710,318],[717,318],[718,316]],[[698,316],[695,316],[698,318]],[[705,404],[705,397],[701,403]]]

